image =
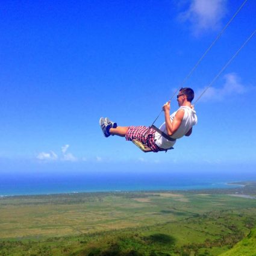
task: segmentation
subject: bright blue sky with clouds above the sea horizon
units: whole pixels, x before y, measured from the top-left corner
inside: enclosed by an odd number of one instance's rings
[[[98,123],[151,125],[242,2],[2,1],[0,172],[254,171],[256,37],[196,104],[198,125],[175,150],[144,154]],[[195,98],[255,30],[255,10],[246,2],[187,81]]]

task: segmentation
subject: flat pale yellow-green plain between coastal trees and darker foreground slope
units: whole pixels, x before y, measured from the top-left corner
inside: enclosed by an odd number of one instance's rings
[[[75,200],[73,201],[73,199]],[[255,200],[229,195],[105,193],[0,199],[0,238],[70,236],[152,226],[210,210],[255,207]]]

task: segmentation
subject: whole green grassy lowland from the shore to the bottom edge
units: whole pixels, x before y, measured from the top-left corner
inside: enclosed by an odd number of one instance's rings
[[[228,253],[254,234],[254,185],[235,190],[2,197],[0,255]],[[245,193],[251,198],[240,197]]]

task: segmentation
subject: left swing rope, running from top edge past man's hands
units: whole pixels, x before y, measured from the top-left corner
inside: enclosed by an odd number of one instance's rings
[[[201,58],[199,58],[199,60],[196,62],[196,64],[192,67],[192,69],[190,70],[190,72],[187,74],[187,76],[184,78],[184,80],[182,81],[182,83],[180,84],[180,86],[178,88],[181,88],[184,86],[184,84],[186,83],[186,81],[190,78],[190,76],[192,75],[192,73],[195,71],[196,67],[199,66],[199,64],[201,63],[201,61],[203,60],[203,58],[205,57],[205,55],[207,55],[207,53],[210,51],[211,48],[213,48],[213,45],[215,45],[215,43],[217,42],[217,40],[220,38],[220,36],[222,36],[223,32],[226,30],[226,28],[228,28],[229,24],[232,22],[232,20],[234,19],[234,17],[237,16],[237,14],[240,12],[240,10],[243,8],[243,6],[246,4],[248,0],[243,1],[242,5],[240,5],[239,9],[236,11],[236,13],[233,15],[233,17],[231,17],[231,19],[228,21],[228,23],[226,23],[225,27],[223,27],[223,29],[220,31],[220,33],[217,35],[216,39],[213,40],[213,42],[211,43],[211,45],[207,48],[207,50],[204,52],[204,54],[202,55]],[[179,89],[175,90],[175,92],[173,93],[172,97],[170,98],[170,101],[173,99],[173,97],[176,95],[176,93],[178,92]],[[160,114],[163,112],[163,110],[161,110],[161,112],[158,114],[157,118],[154,120],[154,122],[152,123],[152,125],[154,125],[154,123],[156,122],[156,120],[158,119],[158,117],[160,116]],[[151,125],[151,126],[152,126]]]

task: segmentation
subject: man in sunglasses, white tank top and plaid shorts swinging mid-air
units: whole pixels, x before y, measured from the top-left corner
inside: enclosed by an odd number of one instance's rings
[[[153,152],[166,151],[175,144],[176,139],[192,134],[192,127],[198,122],[196,111],[191,102],[194,92],[191,88],[181,88],[177,95],[180,108],[170,115],[170,101],[163,105],[165,122],[160,126],[160,131],[147,126],[117,126],[107,117],[101,117],[99,123],[105,137],[117,135],[126,140],[140,140]]]

